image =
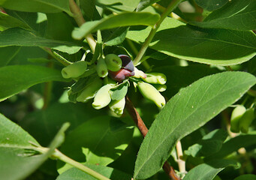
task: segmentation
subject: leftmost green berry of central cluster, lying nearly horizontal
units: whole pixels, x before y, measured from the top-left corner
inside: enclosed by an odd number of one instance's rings
[[[84,72],[86,72],[86,68],[86,62],[74,62],[73,64],[62,69],[62,77],[66,79],[80,77],[82,74],[84,74]]]

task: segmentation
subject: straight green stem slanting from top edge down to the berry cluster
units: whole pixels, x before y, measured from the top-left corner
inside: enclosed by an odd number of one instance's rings
[[[143,55],[146,52],[146,49],[149,46],[149,43],[151,43],[153,37],[155,36],[156,31],[158,30],[158,28],[160,27],[161,23],[164,21],[164,19],[175,9],[175,7],[177,5],[179,5],[179,3],[182,0],[173,0],[170,2],[170,5],[168,5],[168,7],[166,8],[166,10],[164,11],[164,13],[161,14],[160,20],[158,20],[158,23],[155,24],[154,27],[152,27],[149,36],[146,37],[145,42],[143,43],[143,45],[140,48],[139,53],[137,54],[136,58],[134,58],[134,65],[137,65],[141,58],[143,57]]]

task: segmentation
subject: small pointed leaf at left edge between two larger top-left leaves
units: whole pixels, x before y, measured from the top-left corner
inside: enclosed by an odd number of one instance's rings
[[[22,21],[17,20],[16,18],[1,12],[0,12],[0,27],[4,29],[15,28],[15,27],[25,28],[28,30],[30,29],[29,26],[27,26]]]

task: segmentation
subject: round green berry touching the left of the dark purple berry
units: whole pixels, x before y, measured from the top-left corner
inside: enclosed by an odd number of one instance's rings
[[[110,71],[119,71],[122,68],[122,60],[118,55],[108,54],[105,57],[107,69]]]

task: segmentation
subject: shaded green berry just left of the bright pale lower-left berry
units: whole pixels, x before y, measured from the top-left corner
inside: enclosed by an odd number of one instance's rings
[[[85,89],[83,89],[82,92],[77,95],[77,102],[86,102],[89,99],[92,99],[95,97],[96,92],[98,89],[101,88],[103,85],[102,80],[98,77],[93,79],[89,84],[86,86]]]

